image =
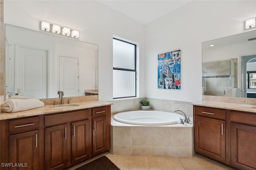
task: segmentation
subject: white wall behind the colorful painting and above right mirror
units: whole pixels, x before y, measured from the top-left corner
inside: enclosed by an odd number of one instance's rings
[[[245,32],[256,1],[192,1],[146,25],[146,97],[202,98],[202,42]],[[250,31],[250,30],[248,30]],[[181,49],[181,89],[157,89],[157,55]]]

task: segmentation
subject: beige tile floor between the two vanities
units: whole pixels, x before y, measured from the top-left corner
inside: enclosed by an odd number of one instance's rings
[[[82,162],[68,170],[74,170],[101,156],[107,156],[121,170],[232,170],[199,155],[191,158],[156,156],[121,156],[109,152]]]

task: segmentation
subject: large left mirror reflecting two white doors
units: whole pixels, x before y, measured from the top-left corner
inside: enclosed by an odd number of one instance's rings
[[[98,45],[8,24],[5,32],[8,96],[98,94]]]

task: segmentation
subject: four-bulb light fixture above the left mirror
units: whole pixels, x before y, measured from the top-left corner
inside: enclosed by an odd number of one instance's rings
[[[50,24],[49,22],[42,21],[41,22],[41,30],[46,32],[52,32],[54,34],[60,34],[62,32],[63,36],[72,37],[72,38],[78,38],[79,37],[79,31],[78,30],[71,30],[67,27],[61,27],[56,24]],[[71,32],[71,34],[70,34]]]

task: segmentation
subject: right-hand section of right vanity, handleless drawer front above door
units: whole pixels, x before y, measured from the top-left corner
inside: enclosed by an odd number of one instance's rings
[[[243,170],[256,169],[256,114],[231,111],[230,164]]]

